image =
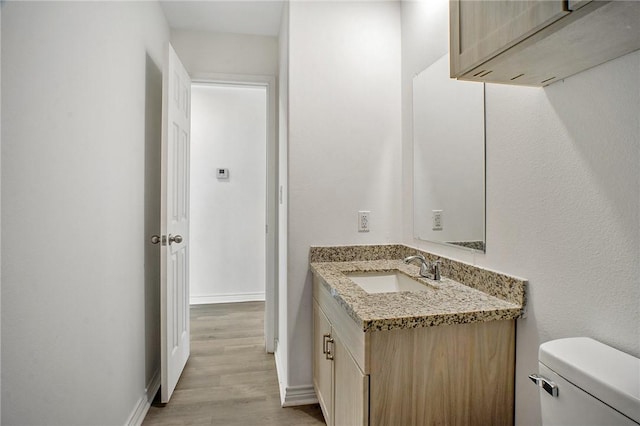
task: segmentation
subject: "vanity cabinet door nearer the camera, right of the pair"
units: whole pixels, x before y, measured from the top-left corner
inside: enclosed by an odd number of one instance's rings
[[[337,334],[334,341],[334,424],[368,425],[369,376],[362,373]]]

